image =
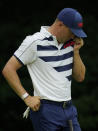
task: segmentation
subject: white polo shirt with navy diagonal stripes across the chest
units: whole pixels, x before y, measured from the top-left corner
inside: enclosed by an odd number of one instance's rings
[[[34,96],[67,101],[71,99],[72,40],[58,44],[47,29],[47,26],[41,27],[40,32],[27,36],[14,56],[27,66]]]

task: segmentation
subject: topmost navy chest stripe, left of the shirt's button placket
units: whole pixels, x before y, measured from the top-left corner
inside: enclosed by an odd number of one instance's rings
[[[49,46],[37,45],[37,51],[53,51],[53,50],[58,50],[58,48],[53,45]]]

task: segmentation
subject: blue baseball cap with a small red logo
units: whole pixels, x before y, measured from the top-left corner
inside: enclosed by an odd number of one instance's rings
[[[64,8],[59,12],[57,18],[68,26],[74,35],[77,37],[87,37],[83,31],[83,18],[81,14],[72,8]]]

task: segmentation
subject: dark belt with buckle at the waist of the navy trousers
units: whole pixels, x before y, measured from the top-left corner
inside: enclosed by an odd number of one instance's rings
[[[66,108],[66,107],[69,107],[69,106],[72,105],[72,100],[57,102],[57,101],[51,101],[51,100],[42,99],[41,103],[42,104],[53,104],[53,105],[58,105],[58,106],[61,106],[63,108]]]

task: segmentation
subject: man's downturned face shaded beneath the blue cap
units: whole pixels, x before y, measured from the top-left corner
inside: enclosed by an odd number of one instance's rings
[[[65,43],[70,39],[74,39],[75,35],[71,32],[71,30],[65,26],[64,24],[60,27],[60,42]]]

